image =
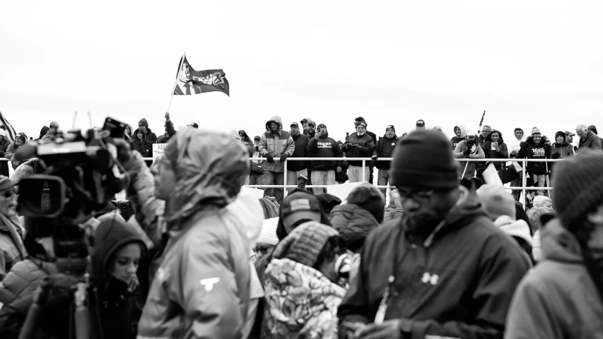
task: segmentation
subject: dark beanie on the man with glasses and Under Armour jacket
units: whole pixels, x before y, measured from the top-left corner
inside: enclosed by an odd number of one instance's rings
[[[402,138],[392,155],[392,186],[454,189],[459,186],[457,163],[443,133],[418,130]]]

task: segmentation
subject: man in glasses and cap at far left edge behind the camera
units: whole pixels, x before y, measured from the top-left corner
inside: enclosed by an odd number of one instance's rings
[[[27,256],[21,239],[23,230],[16,212],[16,184],[17,182],[0,175],[0,280]]]

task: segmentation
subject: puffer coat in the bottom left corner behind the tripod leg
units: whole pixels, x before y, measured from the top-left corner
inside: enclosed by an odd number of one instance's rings
[[[57,273],[54,263],[33,257],[13,266],[0,283],[0,304],[4,304],[0,308],[0,338],[18,338],[37,287],[42,279]],[[66,319],[69,319],[69,307],[47,307],[40,316],[40,328],[35,332],[35,338],[69,338]]]

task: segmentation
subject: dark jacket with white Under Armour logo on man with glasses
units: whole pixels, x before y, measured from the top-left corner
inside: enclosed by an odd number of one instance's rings
[[[515,287],[529,269],[513,239],[486,218],[475,194],[426,240],[417,238],[404,220],[369,234],[358,277],[339,305],[340,324],[372,323],[393,275],[385,320],[402,319],[412,338],[500,338]]]

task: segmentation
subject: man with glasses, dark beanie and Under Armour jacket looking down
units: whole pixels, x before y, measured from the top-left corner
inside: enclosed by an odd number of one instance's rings
[[[394,150],[402,220],[366,239],[339,338],[500,338],[530,263],[459,185],[450,141],[414,131]]]

